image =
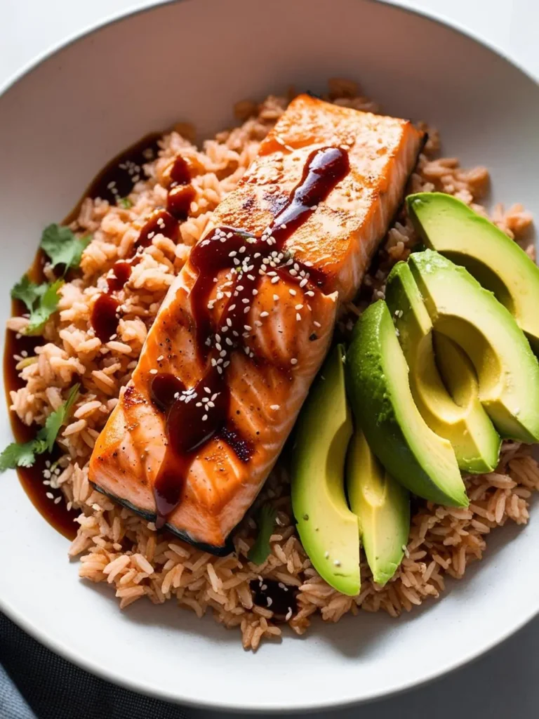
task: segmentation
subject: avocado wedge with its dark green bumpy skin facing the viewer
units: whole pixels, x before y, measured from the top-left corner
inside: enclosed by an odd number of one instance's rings
[[[359,426],[387,472],[420,497],[468,506],[451,443],[430,429],[415,406],[406,360],[383,300],[356,323],[346,369]]]

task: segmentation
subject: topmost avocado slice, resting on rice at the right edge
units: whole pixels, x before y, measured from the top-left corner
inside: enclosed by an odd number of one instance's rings
[[[464,265],[515,317],[539,352],[539,267],[516,242],[464,202],[441,192],[407,197],[410,218],[423,242]]]

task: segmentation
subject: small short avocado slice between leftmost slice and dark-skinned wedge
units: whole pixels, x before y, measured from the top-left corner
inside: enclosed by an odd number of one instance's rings
[[[361,429],[350,441],[346,490],[359,519],[361,543],[374,581],[389,582],[402,562],[410,533],[410,495],[372,454]]]

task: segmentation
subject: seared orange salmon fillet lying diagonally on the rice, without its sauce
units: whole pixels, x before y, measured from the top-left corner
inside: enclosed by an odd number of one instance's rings
[[[185,477],[178,477],[178,501],[162,521],[188,541],[226,551],[227,537],[253,503],[290,434],[331,344],[340,304],[354,298],[402,201],[423,139],[402,119],[306,95],[292,101],[199,242],[208,240],[206,249],[218,252],[231,228],[246,237],[245,247],[230,253],[229,267],[218,267],[204,299],[211,336],[203,344],[210,349],[201,347],[197,326],[193,288],[201,269],[193,252],[170,286],[132,379],[96,442],[90,479],[98,489],[155,518],[156,482],[162,480],[172,439],[170,417],[155,401],[152,383],[157,375],[175,377],[185,388],[176,400],[187,398],[193,411],[198,402],[202,418],[208,418],[218,393],[211,387],[206,393],[201,380],[208,372],[217,377],[216,358],[223,352],[219,378],[227,386],[224,425],[229,429],[213,432],[190,452]],[[268,228],[285,217],[290,198],[305,203],[308,195],[300,190],[305,168],[311,163],[310,178],[316,180],[323,152],[346,153],[345,171],[301,222],[290,224],[278,252],[272,250]],[[282,222],[277,230],[285,232],[285,227]],[[255,260],[247,267],[241,262],[249,253],[257,256],[252,249],[259,245],[249,246],[254,238],[270,238],[270,247],[262,269],[255,267],[256,289],[245,303],[244,331],[239,337],[221,336],[219,328],[222,324],[226,330],[224,318],[234,310],[234,297],[240,301],[242,277],[247,282],[252,276],[249,267]],[[197,386],[199,396],[190,399]],[[241,441],[234,441],[238,437]]]

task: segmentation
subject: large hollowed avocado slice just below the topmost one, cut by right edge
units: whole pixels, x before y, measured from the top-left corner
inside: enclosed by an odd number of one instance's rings
[[[510,312],[438,252],[415,252],[408,262],[434,328],[471,359],[479,401],[496,429],[518,441],[539,441],[539,365]]]

